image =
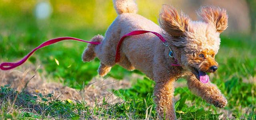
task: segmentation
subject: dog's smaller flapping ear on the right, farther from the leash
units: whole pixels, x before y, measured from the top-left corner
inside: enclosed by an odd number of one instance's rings
[[[223,32],[228,27],[228,13],[225,8],[205,5],[196,12],[199,20],[216,26],[217,32]]]

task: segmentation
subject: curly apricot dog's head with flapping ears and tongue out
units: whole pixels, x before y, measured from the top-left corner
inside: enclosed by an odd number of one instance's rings
[[[179,50],[180,64],[207,83],[206,72],[218,69],[214,57],[219,50],[220,33],[228,27],[228,14],[214,5],[202,6],[196,13],[198,21],[192,21],[183,12],[179,15],[174,7],[164,5],[159,24],[167,41]]]

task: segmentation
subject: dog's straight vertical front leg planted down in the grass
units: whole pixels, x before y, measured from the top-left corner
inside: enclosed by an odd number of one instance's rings
[[[166,120],[176,120],[174,109],[174,79],[171,80],[155,80],[154,88],[154,102],[156,103],[156,110],[160,117]],[[165,115],[164,115],[165,113]]]

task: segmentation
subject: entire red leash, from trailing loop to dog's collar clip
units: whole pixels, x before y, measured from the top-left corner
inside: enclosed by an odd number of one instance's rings
[[[118,45],[117,45],[117,48],[116,48],[116,62],[120,62],[120,46],[124,40],[124,38],[126,36],[133,36],[133,35],[139,35],[139,34],[144,34],[144,33],[148,33],[150,31],[145,31],[145,30],[136,30],[136,31],[132,31],[130,32],[129,34],[126,34],[124,35],[118,42]],[[153,34],[155,34],[156,36],[158,36],[158,38],[160,40],[162,40],[162,42],[164,42],[164,44],[166,43],[166,40],[158,33],[156,32],[151,32]],[[77,40],[77,41],[81,41],[81,42],[87,42],[87,43],[90,43],[90,44],[101,44],[100,42],[88,42],[88,41],[84,41],[84,40],[81,40],[81,39],[78,39],[78,38],[72,38],[72,37],[62,37],[62,38],[55,38],[55,39],[52,39],[52,40],[48,40],[46,42],[44,42],[43,44],[41,44],[40,46],[38,46],[37,48],[35,48],[32,52],[30,52],[25,58],[23,58],[20,62],[16,62],[16,63],[11,63],[11,62],[3,62],[2,64],[0,64],[0,69],[1,70],[10,70],[12,68],[16,68],[18,66],[20,66],[21,64],[23,64],[24,62],[26,62],[26,60],[28,60],[28,58],[36,51],[38,50],[39,48],[42,48],[44,46],[48,46],[50,44],[54,44],[56,42],[60,42],[62,40]],[[166,44],[165,44],[166,45]],[[168,45],[166,45],[168,46]],[[170,48],[170,47],[169,47]],[[171,51],[172,52],[172,51]],[[173,56],[171,56],[174,58],[174,54]],[[175,58],[174,58],[175,59]],[[176,59],[175,59],[176,62],[178,62]],[[174,66],[180,66],[179,64],[171,64],[171,65],[174,65]]]

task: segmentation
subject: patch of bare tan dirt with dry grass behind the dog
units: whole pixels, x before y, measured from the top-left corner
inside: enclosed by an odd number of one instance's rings
[[[26,65],[27,66],[27,65]],[[38,68],[28,65],[28,72],[26,73],[25,67],[20,67],[18,70],[0,70],[0,86],[10,85],[10,88],[14,88],[15,90],[21,92],[23,88],[26,86],[26,82],[28,82],[24,91],[32,96],[38,96],[39,94],[47,95],[52,94],[54,98],[58,98],[58,100],[82,100],[80,96],[82,90],[76,90],[74,88],[70,88],[68,86],[63,86],[62,83],[52,82],[52,78],[50,76],[46,76],[46,73],[39,73],[37,71]],[[26,73],[25,77],[24,74]],[[33,77],[34,76],[34,77]],[[24,80],[22,82],[22,79]],[[51,81],[51,82],[48,82]],[[128,80],[114,80],[113,78],[99,78],[95,77],[90,81],[91,84],[85,86],[84,88],[84,100],[86,101],[88,106],[95,106],[95,100],[97,98],[97,103],[101,105],[102,98],[108,99],[108,103],[116,103],[120,102],[120,99],[112,94],[112,88],[127,88],[130,87],[131,84]]]

